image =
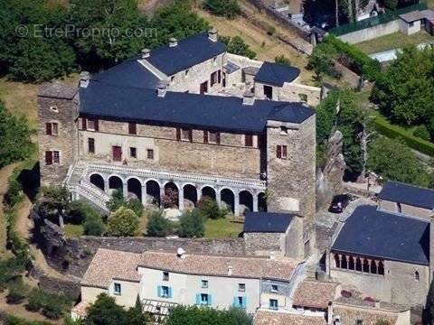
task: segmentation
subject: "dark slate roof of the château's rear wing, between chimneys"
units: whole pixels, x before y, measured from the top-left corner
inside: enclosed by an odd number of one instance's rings
[[[224,43],[212,42],[208,38],[208,33],[203,32],[178,41],[175,47],[166,45],[157,48],[151,51],[150,57],[145,60],[165,75],[171,76],[205,60],[210,60],[224,51],[226,51]]]

